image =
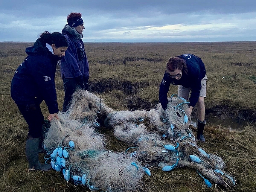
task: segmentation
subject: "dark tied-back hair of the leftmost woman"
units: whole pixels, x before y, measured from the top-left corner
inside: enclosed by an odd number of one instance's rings
[[[68,46],[66,38],[59,32],[53,32],[51,34],[50,32],[45,31],[40,35],[40,38],[43,43],[48,43],[50,45],[55,44],[56,48]]]

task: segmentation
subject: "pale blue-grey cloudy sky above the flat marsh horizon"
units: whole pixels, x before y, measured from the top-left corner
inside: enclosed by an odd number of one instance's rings
[[[70,12],[84,42],[256,41],[255,0],[1,0],[0,42],[61,32]]]

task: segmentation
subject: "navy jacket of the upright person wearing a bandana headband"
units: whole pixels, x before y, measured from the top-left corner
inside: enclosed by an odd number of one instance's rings
[[[61,59],[62,78],[76,78],[80,75],[89,77],[89,64],[85,51],[85,56],[82,60],[80,60],[78,56],[78,49],[84,50],[83,41],[76,40],[66,29],[62,29],[62,34],[66,37],[67,42],[69,43],[65,56]]]

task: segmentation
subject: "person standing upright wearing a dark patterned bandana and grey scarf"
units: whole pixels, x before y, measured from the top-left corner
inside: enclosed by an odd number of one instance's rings
[[[81,17],[81,13],[71,12],[62,29],[62,34],[69,43],[66,55],[61,59],[61,77],[65,92],[63,112],[69,109],[72,94],[77,88],[88,90],[89,64],[82,41],[85,27]]]

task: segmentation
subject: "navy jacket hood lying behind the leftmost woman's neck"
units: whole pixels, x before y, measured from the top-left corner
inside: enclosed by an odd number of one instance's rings
[[[33,47],[27,47],[26,48],[27,55],[48,55],[50,58],[53,58],[55,60],[60,60],[61,57],[53,55],[48,48],[46,47],[46,44],[41,41],[41,38],[37,39],[35,41]]]

